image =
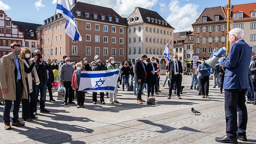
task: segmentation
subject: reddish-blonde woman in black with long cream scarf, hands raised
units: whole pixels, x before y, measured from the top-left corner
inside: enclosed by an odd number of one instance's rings
[[[36,89],[36,85],[39,85],[40,81],[35,68],[37,56],[34,57],[33,62],[31,59],[31,50],[27,47],[21,49],[19,57],[24,62],[25,79],[28,89],[28,99],[22,99],[22,119],[25,121],[32,121],[34,118],[38,118],[34,115],[36,109],[37,93],[33,91]]]

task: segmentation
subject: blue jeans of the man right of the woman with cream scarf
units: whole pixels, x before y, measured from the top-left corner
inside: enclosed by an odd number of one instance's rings
[[[45,108],[45,101],[46,101],[46,83],[40,82],[39,85],[36,85],[36,94],[40,91],[40,110]],[[36,112],[37,109],[35,109]]]

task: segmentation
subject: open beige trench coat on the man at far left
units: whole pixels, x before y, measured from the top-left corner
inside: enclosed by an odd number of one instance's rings
[[[19,66],[21,71],[21,77],[23,82],[23,94],[22,99],[28,99],[27,85],[25,79],[24,62],[19,58]],[[1,89],[7,88],[7,93],[3,98],[5,100],[16,100],[16,86],[15,86],[15,62],[12,54],[3,56],[0,59],[0,86]],[[0,97],[2,91],[0,92]]]

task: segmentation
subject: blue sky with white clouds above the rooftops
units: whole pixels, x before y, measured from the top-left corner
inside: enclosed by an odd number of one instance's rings
[[[0,9],[14,21],[43,24],[53,16],[57,0],[0,0]],[[72,3],[72,0],[69,0]],[[158,12],[175,28],[174,32],[193,30],[191,24],[206,7],[225,6],[227,0],[77,0],[110,7],[119,15],[130,15],[135,7]],[[232,5],[252,3],[255,0],[231,0]]]

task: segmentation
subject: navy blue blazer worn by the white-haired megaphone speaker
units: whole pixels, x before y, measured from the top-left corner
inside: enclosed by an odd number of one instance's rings
[[[227,58],[221,59],[221,65],[225,66],[224,89],[247,89],[248,67],[252,57],[251,47],[244,40],[234,43]]]

